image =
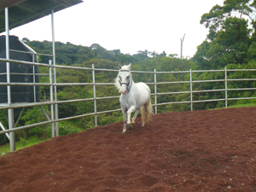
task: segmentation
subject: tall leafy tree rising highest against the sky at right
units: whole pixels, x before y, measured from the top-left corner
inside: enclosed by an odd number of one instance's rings
[[[253,1],[254,3],[254,1]],[[229,63],[247,61],[247,51],[253,40],[253,3],[247,0],[226,0],[224,6],[215,5],[209,13],[201,16],[201,24],[209,28],[207,40],[197,48],[193,58],[201,69],[218,69]],[[237,17],[238,16],[238,17]]]

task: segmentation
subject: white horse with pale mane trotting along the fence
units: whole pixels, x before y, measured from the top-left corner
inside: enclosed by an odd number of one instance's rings
[[[131,128],[131,124],[135,123],[140,108],[142,109],[142,126],[151,119],[153,114],[148,85],[143,82],[135,84],[132,80],[130,69],[131,63],[123,67],[119,64],[119,74],[115,79],[115,86],[121,92],[119,102],[124,116],[123,133],[126,132],[126,125]],[[135,114],[131,119],[131,113],[133,112]]]

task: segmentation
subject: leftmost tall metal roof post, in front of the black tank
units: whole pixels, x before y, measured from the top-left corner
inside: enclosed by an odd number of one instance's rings
[[[6,59],[9,60],[9,9],[5,8],[5,49],[6,49]],[[7,83],[10,83],[10,67],[9,62],[6,62],[6,78]],[[7,86],[7,97],[8,97],[8,105],[11,105],[11,87],[10,85]],[[9,119],[9,130],[14,128],[15,124],[15,116],[14,116],[14,109],[8,109],[8,119]],[[9,133],[9,147],[10,152],[15,151],[15,131]]]

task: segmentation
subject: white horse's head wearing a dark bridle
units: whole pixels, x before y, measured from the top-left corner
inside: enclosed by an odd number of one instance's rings
[[[125,95],[131,89],[132,76],[130,69],[131,63],[128,66],[121,66],[119,64],[119,74],[115,79],[115,86],[123,95]]]

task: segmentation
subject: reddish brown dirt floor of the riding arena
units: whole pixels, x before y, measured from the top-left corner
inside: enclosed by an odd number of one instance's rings
[[[256,108],[173,112],[0,157],[0,191],[256,191]]]

